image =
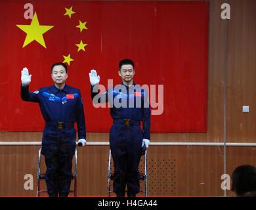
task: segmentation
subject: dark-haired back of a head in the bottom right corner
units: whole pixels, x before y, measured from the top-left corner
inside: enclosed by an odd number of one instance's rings
[[[237,196],[256,190],[256,168],[240,165],[232,173],[232,190]]]

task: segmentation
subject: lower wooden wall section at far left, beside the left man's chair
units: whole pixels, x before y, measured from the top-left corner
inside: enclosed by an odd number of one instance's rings
[[[0,146],[0,196],[35,196],[24,189],[24,176],[33,175],[35,189],[39,146]]]

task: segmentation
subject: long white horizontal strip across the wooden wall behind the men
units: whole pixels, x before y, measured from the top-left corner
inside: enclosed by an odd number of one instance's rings
[[[0,142],[0,146],[41,145],[41,142]],[[109,142],[87,142],[87,146],[110,145]],[[224,142],[150,142],[150,146],[224,146]],[[256,143],[226,143],[226,146],[256,146]]]

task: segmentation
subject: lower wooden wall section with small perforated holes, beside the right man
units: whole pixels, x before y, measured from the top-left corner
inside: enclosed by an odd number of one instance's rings
[[[158,162],[158,167],[148,171],[152,186],[148,188],[148,196],[223,196],[220,187],[224,170],[222,147],[152,146],[148,150],[148,167],[152,162]],[[173,169],[165,168],[170,162],[174,163],[170,164]],[[158,168],[162,169],[163,179],[156,180]],[[173,186],[163,190],[158,188],[161,182]]]

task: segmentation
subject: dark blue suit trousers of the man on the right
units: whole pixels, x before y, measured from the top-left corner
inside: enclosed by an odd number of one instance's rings
[[[114,123],[110,129],[110,149],[114,161],[113,188],[116,194],[137,194],[140,190],[139,162],[141,157],[142,129]]]

